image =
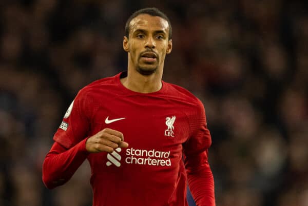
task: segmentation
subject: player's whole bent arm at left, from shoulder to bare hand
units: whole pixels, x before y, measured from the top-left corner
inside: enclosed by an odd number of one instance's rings
[[[53,136],[55,143],[43,163],[43,182],[49,189],[67,182],[89,153],[112,153],[115,148],[128,147],[121,132],[107,128],[85,138],[90,132],[92,113],[98,108],[88,105],[91,99],[86,92],[79,92]]]

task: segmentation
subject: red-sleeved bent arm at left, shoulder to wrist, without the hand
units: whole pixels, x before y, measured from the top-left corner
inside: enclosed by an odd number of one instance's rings
[[[79,92],[53,136],[55,142],[43,163],[43,182],[49,189],[67,182],[87,158],[85,138],[91,114],[87,101],[86,93]]]

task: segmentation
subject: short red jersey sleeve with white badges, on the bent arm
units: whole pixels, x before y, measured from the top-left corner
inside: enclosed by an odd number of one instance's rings
[[[72,101],[53,140],[65,148],[71,148],[87,137],[90,127],[89,99],[81,90]]]

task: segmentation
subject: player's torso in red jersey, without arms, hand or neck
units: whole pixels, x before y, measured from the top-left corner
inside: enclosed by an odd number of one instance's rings
[[[188,205],[182,150],[190,135],[186,111],[194,109],[194,100],[167,83],[155,93],[132,92],[119,75],[86,92],[89,107],[96,108],[88,135],[110,128],[129,143],[112,154],[88,156],[93,205]],[[119,120],[110,123],[114,119]]]

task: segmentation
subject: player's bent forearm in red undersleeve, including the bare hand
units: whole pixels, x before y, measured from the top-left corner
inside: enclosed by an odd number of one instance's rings
[[[43,182],[48,189],[66,183],[90,153],[109,152],[115,148],[127,148],[121,132],[104,129],[86,138],[70,149],[54,142],[43,163]]]

